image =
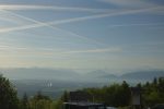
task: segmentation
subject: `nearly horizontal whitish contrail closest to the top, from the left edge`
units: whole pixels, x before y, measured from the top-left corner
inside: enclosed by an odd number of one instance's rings
[[[108,9],[90,9],[90,8],[72,8],[72,7],[57,7],[57,5],[20,5],[20,4],[1,4],[0,10],[52,10],[52,11],[83,11],[83,12],[107,12]]]

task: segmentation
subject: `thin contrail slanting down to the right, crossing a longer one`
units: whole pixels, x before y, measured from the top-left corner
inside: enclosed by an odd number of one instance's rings
[[[3,11],[4,11],[4,10],[3,10]],[[55,27],[55,26],[48,25],[47,23],[43,23],[43,22],[36,21],[36,20],[34,20],[34,19],[30,19],[30,17],[26,17],[26,16],[20,15],[20,14],[16,14],[16,13],[14,13],[14,12],[11,12],[11,11],[4,11],[4,12],[10,13],[10,14],[12,14],[12,15],[14,15],[14,16],[17,16],[17,17],[24,19],[24,20],[26,20],[26,21],[36,23],[36,24],[38,24],[38,25],[44,25],[44,26],[47,26],[47,27],[52,28],[52,29],[61,31],[61,32],[63,32],[63,33],[70,34],[70,35],[72,35],[72,36],[79,37],[79,38],[84,39],[84,40],[87,40],[87,41],[92,41],[92,43],[97,44],[97,45],[104,45],[104,44],[102,44],[102,43],[99,43],[99,41],[97,41],[97,40],[87,38],[87,37],[85,37],[85,36],[78,35],[78,34],[75,34],[75,33],[73,33],[73,32],[70,32],[70,31],[66,31],[66,29],[61,29],[61,28],[59,28],[59,27]]]

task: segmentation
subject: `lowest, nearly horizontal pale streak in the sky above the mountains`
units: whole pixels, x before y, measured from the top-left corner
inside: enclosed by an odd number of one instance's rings
[[[69,55],[75,55],[75,53],[117,53],[121,52],[122,49],[118,47],[114,48],[96,48],[96,49],[83,49],[83,50],[60,50],[60,51],[55,51],[55,50],[49,50],[49,49],[31,49],[31,48],[25,48],[25,47],[11,47],[11,46],[0,46],[0,50],[4,50],[3,53],[10,52],[11,50],[16,50],[19,53],[25,53],[25,55],[44,55],[44,56],[69,56]]]

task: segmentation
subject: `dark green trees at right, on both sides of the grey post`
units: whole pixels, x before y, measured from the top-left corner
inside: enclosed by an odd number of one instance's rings
[[[164,104],[164,78],[154,78],[145,84],[138,83],[137,87],[141,88],[141,104],[145,107],[154,106],[155,104]],[[84,88],[92,96],[90,101],[105,102],[107,106],[125,107],[131,104],[131,90],[126,81],[122,84],[113,84],[102,88]]]

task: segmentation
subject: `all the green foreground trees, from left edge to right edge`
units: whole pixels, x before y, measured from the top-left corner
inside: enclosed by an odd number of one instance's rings
[[[151,107],[155,104],[164,104],[164,78],[154,78],[145,84],[138,83],[136,87],[141,88],[142,106]],[[130,85],[124,81],[121,84],[112,84],[104,87],[92,87],[79,89],[91,95],[91,101],[104,102],[110,107],[129,107],[131,101]],[[62,102],[68,101],[69,92],[63,92],[58,100],[38,92],[33,97],[24,94],[22,98],[16,95],[16,88],[10,81],[0,75],[0,109],[61,109]]]

